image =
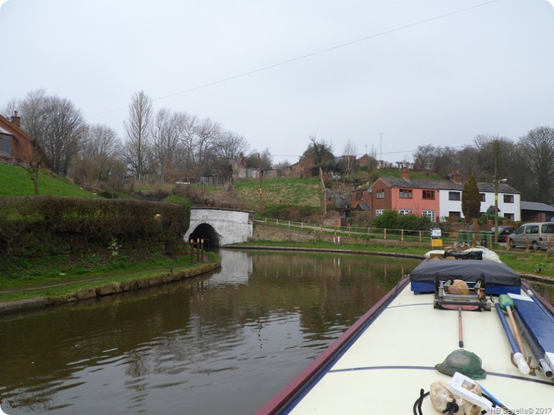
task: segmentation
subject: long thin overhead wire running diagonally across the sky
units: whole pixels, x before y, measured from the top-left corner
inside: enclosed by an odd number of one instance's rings
[[[404,30],[404,29],[407,29],[407,28],[412,28],[412,27],[414,27],[414,26],[420,26],[420,25],[422,25],[422,24],[429,23],[430,21],[435,21],[435,20],[438,20],[438,19],[443,19],[443,18],[445,18],[445,17],[457,15],[458,13],[462,13],[462,12],[467,12],[467,10],[472,10],[472,9],[474,9],[474,8],[479,8],[479,7],[483,7],[483,6],[488,6],[489,4],[496,3],[497,1],[500,1],[500,0],[490,0],[490,1],[486,1],[485,3],[479,3],[479,4],[476,4],[476,5],[474,5],[474,6],[470,6],[470,7],[467,7],[467,8],[455,10],[454,12],[445,13],[444,15],[438,15],[438,16],[436,16],[436,17],[430,17],[429,19],[424,19],[424,20],[416,21],[415,23],[406,24],[406,25],[404,25],[404,26],[398,26],[397,28],[393,28],[393,29],[391,29],[391,30],[385,30],[384,32],[375,33],[374,35],[369,35],[369,36],[366,36],[366,37],[361,37],[360,39],[352,40],[352,41],[350,41],[350,42],[346,42],[346,43],[339,44],[339,45],[336,45],[336,46],[331,46],[330,48],[317,50],[316,52],[307,53],[306,55],[301,55],[301,56],[298,56],[298,57],[294,57],[294,58],[292,58],[292,59],[288,59],[288,60],[285,60],[285,61],[283,61],[283,62],[278,62],[278,63],[276,63],[276,64],[271,64],[271,65],[269,65],[269,66],[262,66],[262,68],[254,69],[253,71],[248,71],[248,72],[240,73],[240,74],[238,74],[238,75],[233,75],[233,76],[230,76],[230,77],[226,77],[226,78],[223,78],[223,79],[221,79],[221,80],[214,81],[214,82],[208,82],[207,84],[202,84],[202,85],[199,85],[199,86],[194,86],[193,88],[185,89],[184,91],[179,91],[179,92],[175,92],[175,93],[170,93],[170,94],[168,94],[168,95],[163,95],[163,96],[161,96],[161,97],[153,98],[152,100],[153,100],[153,101],[163,100],[163,99],[166,99],[166,98],[174,97],[174,96],[176,96],[176,95],[181,95],[181,94],[184,94],[184,93],[189,93],[189,92],[197,91],[197,90],[199,90],[199,89],[208,88],[209,86],[214,86],[214,85],[217,85],[217,84],[222,84],[223,82],[229,82],[229,81],[231,81],[231,80],[236,80],[236,79],[238,79],[238,78],[240,78],[240,77],[245,77],[245,76],[248,76],[248,75],[253,75],[254,73],[258,73],[258,72],[262,72],[262,71],[267,71],[268,69],[276,68],[276,67],[278,67],[278,66],[283,66],[283,65],[286,65],[286,64],[291,64],[292,62],[296,62],[296,61],[301,60],[301,59],[306,59],[307,57],[312,57],[312,56],[315,56],[315,55],[320,55],[321,53],[327,53],[327,52],[330,52],[330,51],[332,51],[332,50],[336,50],[336,49],[339,49],[339,48],[345,48],[346,46],[350,46],[350,45],[357,44],[357,43],[360,43],[360,42],[365,42],[366,40],[374,39],[375,37],[380,37],[380,36],[384,36],[384,35],[389,35],[389,34],[391,34],[391,33],[395,33],[395,32],[398,32],[398,31],[400,31],[400,30]],[[127,109],[127,107],[119,107],[119,108],[115,108],[115,109],[109,109],[109,110],[106,110],[106,111],[101,111],[101,112],[99,112],[99,113],[93,113],[93,114],[91,114],[91,116],[98,116],[98,115],[101,115],[101,114],[111,113],[111,112],[114,112],[114,111],[121,111],[121,110],[123,110],[123,109]]]

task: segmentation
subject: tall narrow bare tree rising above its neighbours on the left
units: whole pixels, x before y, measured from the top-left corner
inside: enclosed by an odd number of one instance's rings
[[[127,120],[123,122],[125,129],[124,154],[136,178],[141,180],[148,172],[150,161],[150,128],[152,126],[152,98],[144,91],[134,93],[129,104]]]

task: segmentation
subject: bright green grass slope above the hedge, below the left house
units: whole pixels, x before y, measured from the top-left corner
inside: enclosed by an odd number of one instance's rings
[[[29,173],[23,168],[6,163],[0,163],[0,197],[28,196],[35,194],[35,185],[30,180]],[[46,170],[39,172],[39,194],[51,196],[76,196],[93,198],[96,194],[81,189],[67,178],[48,174]]]

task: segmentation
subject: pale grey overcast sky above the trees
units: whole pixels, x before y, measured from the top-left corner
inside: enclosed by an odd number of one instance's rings
[[[310,135],[393,162],[554,127],[546,0],[0,4],[0,107],[45,89],[122,138],[140,90],[155,110],[209,117],[291,163]]]

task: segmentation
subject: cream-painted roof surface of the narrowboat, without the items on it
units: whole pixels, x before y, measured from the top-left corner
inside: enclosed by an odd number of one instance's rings
[[[458,349],[458,311],[434,308],[434,295],[414,295],[409,282],[387,301],[279,414],[411,414],[420,389],[429,391],[432,382],[452,380],[435,366]],[[512,349],[494,306],[492,310],[462,312],[464,349],[479,356],[487,371],[479,384],[519,411],[515,413],[551,413],[554,382],[542,372],[521,374],[512,365]],[[523,412],[531,408],[535,412]],[[275,413],[264,408],[258,412]],[[422,413],[439,414],[429,398],[423,400]]]

